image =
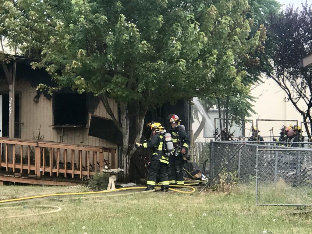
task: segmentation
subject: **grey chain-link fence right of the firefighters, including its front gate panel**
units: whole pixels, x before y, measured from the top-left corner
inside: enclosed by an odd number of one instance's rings
[[[206,147],[201,148],[205,154],[200,150],[197,153],[202,152],[198,157],[206,162],[205,173],[209,179],[216,176],[211,186],[218,183],[222,173],[232,173],[240,185],[255,190],[257,205],[312,205],[312,143],[301,142],[296,144],[298,147],[262,143],[205,143]],[[241,148],[242,144],[245,145]]]

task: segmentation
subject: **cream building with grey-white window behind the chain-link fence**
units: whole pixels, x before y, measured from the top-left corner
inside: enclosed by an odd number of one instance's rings
[[[285,92],[275,83],[274,80],[264,79],[264,83],[251,88],[251,95],[258,98],[254,103],[254,110],[257,115],[247,119],[252,119],[254,126],[256,126],[256,119],[276,119],[276,120],[302,120],[302,116],[296,111],[295,107],[290,102],[285,102]],[[303,106],[302,106],[303,107]],[[218,118],[217,110],[209,110],[208,116],[210,117],[211,124],[206,121],[205,128],[199,134],[196,142],[209,141],[213,137],[214,131],[214,118]],[[200,117],[201,118],[201,117]],[[222,118],[225,118],[222,116]],[[194,120],[192,129],[193,132],[199,127],[199,122]],[[219,126],[218,121],[217,126]],[[295,121],[258,121],[258,129],[261,131],[261,136],[265,137],[265,140],[270,140],[270,136],[274,133],[275,137],[279,136],[280,128],[282,125],[289,126],[290,124],[295,125]],[[213,127],[213,128],[212,128]],[[273,128],[273,132],[270,129]],[[235,130],[234,135],[237,137],[242,134],[241,126],[233,126],[231,132]],[[251,122],[245,124],[245,137],[251,135]],[[205,133],[205,135],[204,135]]]

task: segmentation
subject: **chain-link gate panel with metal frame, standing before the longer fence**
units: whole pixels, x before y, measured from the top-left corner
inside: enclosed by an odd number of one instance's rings
[[[257,147],[256,151],[257,205],[312,206],[312,149]]]

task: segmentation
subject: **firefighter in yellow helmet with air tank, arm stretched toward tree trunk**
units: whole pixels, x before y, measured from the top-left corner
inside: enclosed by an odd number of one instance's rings
[[[167,175],[169,160],[168,156],[165,155],[166,143],[164,142],[164,134],[166,133],[166,130],[160,123],[152,123],[150,128],[153,134],[151,139],[143,144],[138,142],[135,143],[137,148],[143,147],[153,149],[146,190],[152,190],[155,188],[156,177],[158,174],[161,190],[167,192],[169,188]]]

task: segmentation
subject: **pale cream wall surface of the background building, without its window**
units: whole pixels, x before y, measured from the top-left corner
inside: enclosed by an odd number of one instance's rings
[[[264,83],[253,87],[251,90],[251,95],[257,97],[256,103],[254,103],[254,110],[257,112],[256,115],[252,115],[248,119],[253,119],[256,125],[256,119],[289,119],[298,120],[298,124],[302,121],[301,115],[295,110],[290,102],[285,102],[286,97],[285,92],[271,79],[263,79]],[[300,105],[303,107],[304,105]],[[214,120],[212,120],[213,124]],[[274,128],[274,135],[278,136],[280,132],[280,127],[285,124],[295,124],[294,122],[259,122],[259,130],[261,130],[262,136],[270,136],[269,130]],[[199,122],[195,120],[192,129],[193,132],[199,126]],[[247,130],[246,130],[247,131]],[[246,132],[248,136],[249,133]],[[269,138],[267,138],[269,139]],[[209,141],[210,139],[204,138],[203,131],[200,133],[197,142]]]

